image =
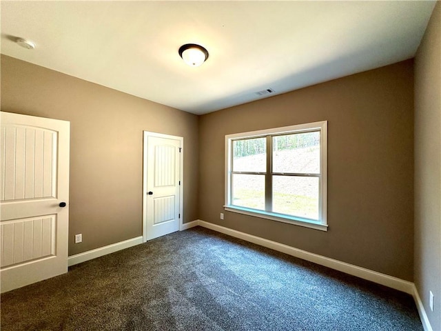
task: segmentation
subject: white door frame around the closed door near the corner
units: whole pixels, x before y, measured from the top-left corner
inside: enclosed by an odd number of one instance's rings
[[[181,185],[179,185],[179,231],[183,230],[183,201],[184,201],[184,137],[172,136],[171,134],[163,134],[158,132],[143,131],[143,242],[147,241],[147,149],[148,138],[157,137],[165,139],[174,139],[180,141],[181,152],[179,153],[179,177],[181,177]]]

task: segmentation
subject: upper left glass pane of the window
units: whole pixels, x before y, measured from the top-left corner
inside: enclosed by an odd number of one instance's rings
[[[267,139],[233,141],[233,171],[266,172]]]

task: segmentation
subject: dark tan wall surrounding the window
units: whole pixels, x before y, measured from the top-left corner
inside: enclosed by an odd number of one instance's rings
[[[225,134],[328,121],[328,232],[225,212]],[[413,280],[413,61],[200,118],[199,217]]]

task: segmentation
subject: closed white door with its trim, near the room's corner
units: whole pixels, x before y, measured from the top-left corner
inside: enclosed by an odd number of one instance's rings
[[[144,241],[179,230],[183,138],[144,132]]]

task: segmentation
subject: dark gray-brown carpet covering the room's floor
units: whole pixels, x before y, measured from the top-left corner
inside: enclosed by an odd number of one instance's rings
[[[423,330],[411,296],[193,228],[1,295],[1,330]]]

